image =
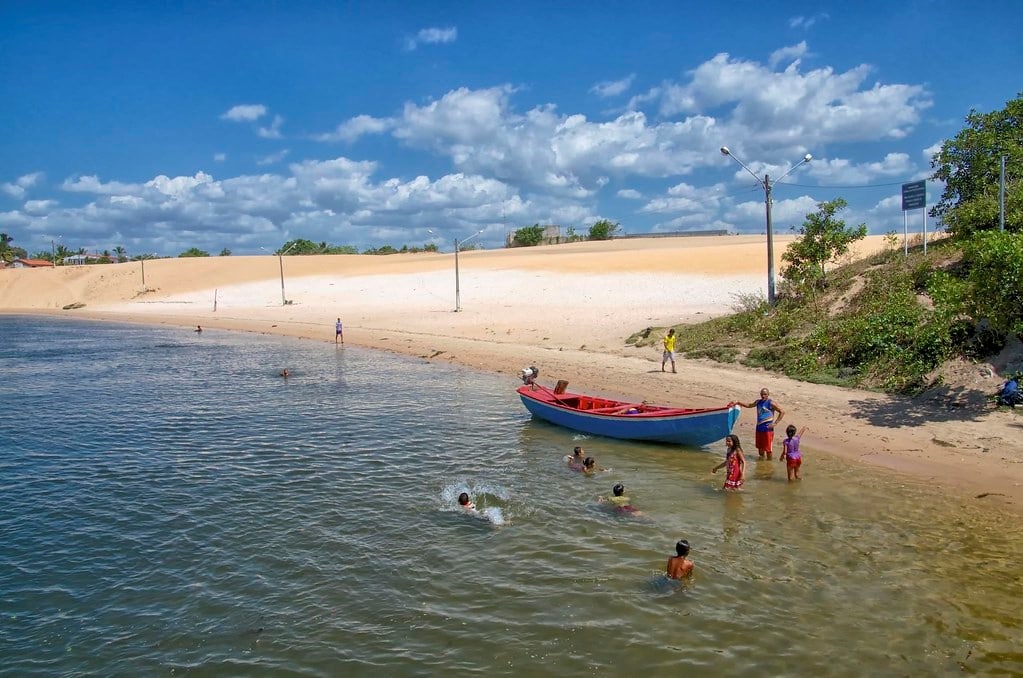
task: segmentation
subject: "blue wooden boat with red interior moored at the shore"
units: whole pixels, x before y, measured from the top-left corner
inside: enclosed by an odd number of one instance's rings
[[[547,389],[523,372],[526,383],[518,393],[530,414],[592,436],[701,447],[730,434],[739,419],[735,403],[708,408],[629,403],[567,393],[567,381]]]

